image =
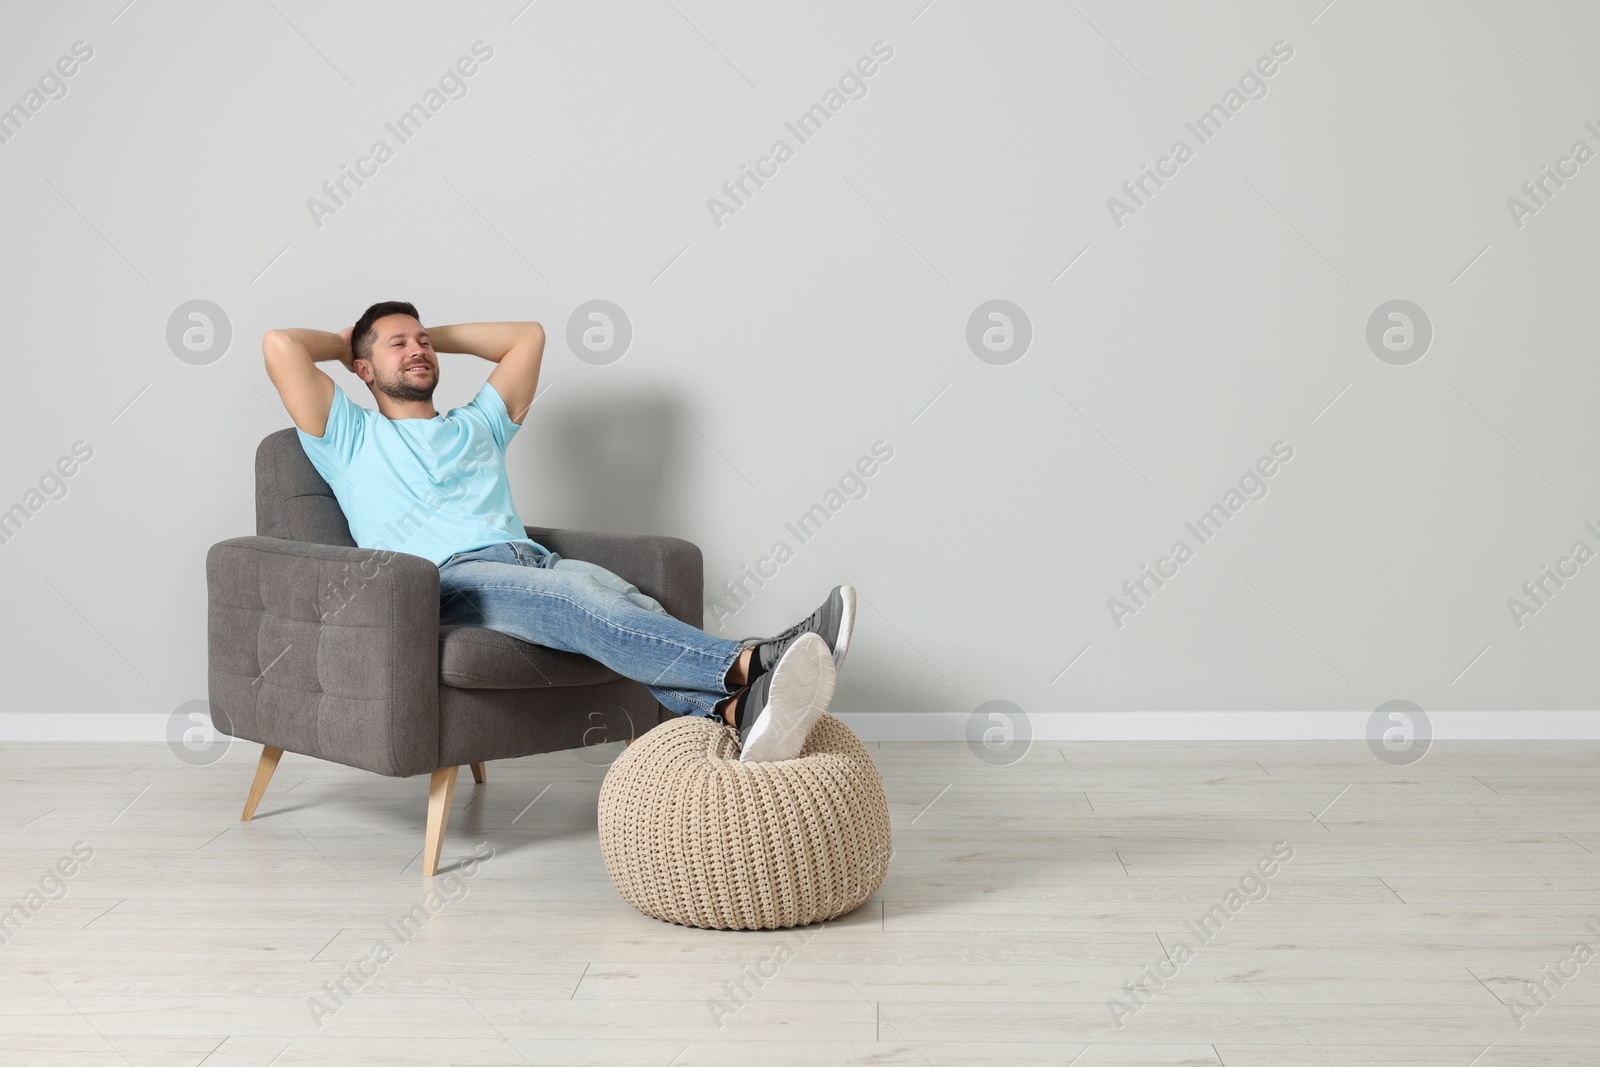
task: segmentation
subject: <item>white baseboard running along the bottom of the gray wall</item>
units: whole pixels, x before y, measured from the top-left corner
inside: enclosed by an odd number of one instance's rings
[[[1040,712],[1034,741],[1362,741],[1371,712]],[[1600,710],[1429,712],[1437,741],[1600,741]],[[965,741],[958,712],[838,712],[864,741]],[[5,741],[165,741],[170,715],[0,713]]]

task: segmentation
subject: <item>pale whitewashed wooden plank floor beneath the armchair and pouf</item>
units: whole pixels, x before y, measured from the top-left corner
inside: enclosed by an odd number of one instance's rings
[[[798,934],[627,907],[595,840],[603,768],[574,753],[462,773],[424,883],[426,776],[290,753],[240,824],[251,744],[210,766],[3,745],[0,909],[74,841],[94,856],[0,944],[0,1062],[1600,1064],[1600,958],[1522,1027],[1509,1006],[1574,942],[1600,950],[1597,744],[1440,742],[1402,769],[1358,742],[1037,744],[1005,768],[872,749],[888,881]],[[1269,894],[1187,934],[1274,841],[1294,857]],[[474,846],[494,854],[462,878]],[[458,899],[397,937],[451,870]],[[314,1019],[379,939],[392,958]],[[1194,958],[1118,1029],[1107,1000],[1181,939]],[[779,942],[718,1025],[710,1001]]]

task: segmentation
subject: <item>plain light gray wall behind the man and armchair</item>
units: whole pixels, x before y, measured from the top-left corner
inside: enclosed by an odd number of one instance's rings
[[[40,507],[0,544],[3,709],[205,696],[205,550],[288,426],[259,338],[395,298],[546,325],[525,522],[690,537],[718,595],[787,542],[709,605],[733,637],[853,581],[840,710],[1595,707],[1600,561],[1560,560],[1600,550],[1600,8],[1325,3],[8,8],[0,507]],[[594,299],[621,358],[570,347]],[[192,301],[226,349],[170,342]],[[488,370],[446,355],[440,406]],[[1534,601],[1544,565],[1576,573]]]

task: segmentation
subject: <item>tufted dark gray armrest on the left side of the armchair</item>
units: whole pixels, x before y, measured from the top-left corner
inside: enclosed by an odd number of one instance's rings
[[[282,537],[206,553],[213,725],[378,774],[438,768],[438,568]]]

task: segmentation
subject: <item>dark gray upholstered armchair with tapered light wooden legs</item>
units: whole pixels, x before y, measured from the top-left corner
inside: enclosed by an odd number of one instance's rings
[[[701,625],[702,561],[678,537],[528,526]],[[256,534],[206,553],[208,689],[216,729],[264,745],[248,821],[285,752],[376,774],[430,774],[422,873],[438,870],[456,771],[632,739],[674,715],[638,681],[573,653],[440,625],[438,568],[358,549],[293,429],[256,450]]]

